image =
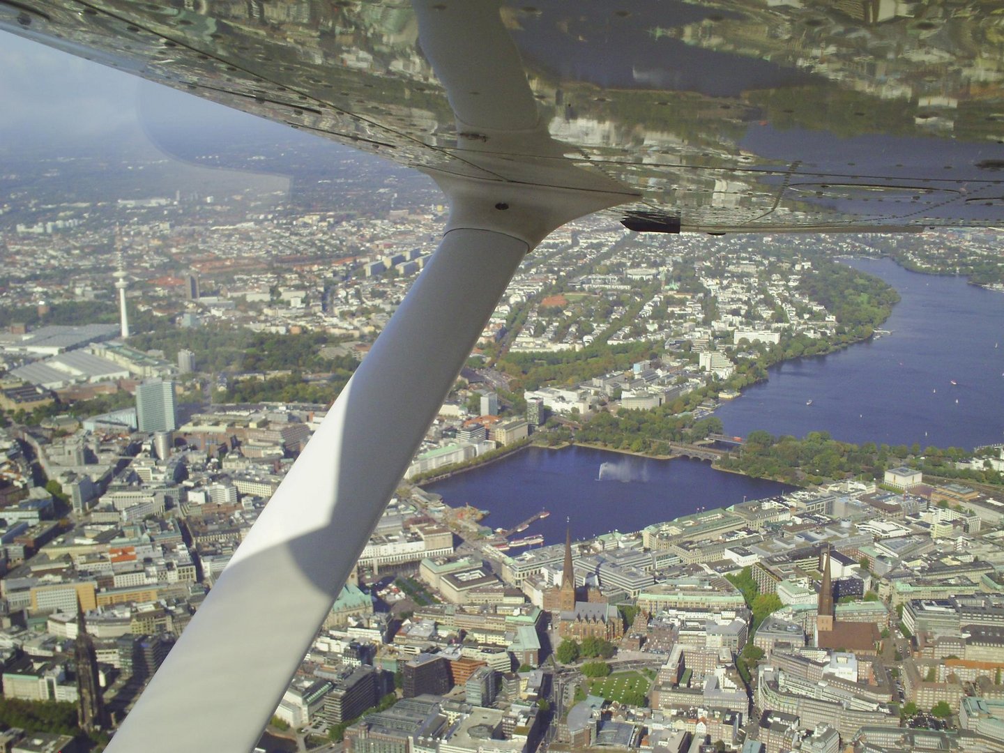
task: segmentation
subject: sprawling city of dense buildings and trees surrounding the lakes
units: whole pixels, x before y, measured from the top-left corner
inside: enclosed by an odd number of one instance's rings
[[[339,155],[340,178],[309,173],[295,197],[269,176],[210,185],[151,155],[51,162],[129,187],[110,200],[94,183],[71,200],[46,177],[26,201],[22,179],[2,178],[4,697],[76,704],[91,732],[129,713],[427,263],[446,214],[429,185],[392,171],[374,190]],[[177,188],[137,198],[148,171]],[[191,171],[205,189],[187,187]],[[982,231],[941,239],[996,258]],[[715,423],[767,365],[874,333],[891,291],[833,257],[877,243],[669,244],[602,217],[549,236],[437,412],[275,727],[373,753],[1004,749],[1004,500],[975,475],[1004,470],[1004,448],[785,444],[779,459]],[[698,492],[633,531],[611,510],[592,526],[608,533],[561,542],[540,533],[547,510],[495,522],[476,495],[421,486],[531,443],[697,458],[799,488],[727,509]],[[798,465],[803,451],[831,467]],[[597,481],[631,483],[617,457]],[[555,514],[574,519],[576,502]],[[64,741],[36,747],[50,743]]]

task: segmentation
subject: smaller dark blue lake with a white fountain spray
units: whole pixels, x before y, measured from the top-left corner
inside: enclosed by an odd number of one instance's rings
[[[531,447],[426,488],[447,504],[490,510],[484,524],[492,528],[511,528],[546,509],[550,516],[526,531],[542,533],[545,544],[564,540],[566,517],[572,537],[587,538],[610,530],[637,531],[700,507],[726,507],[790,489],[715,471],[699,460],[652,460],[587,447]]]

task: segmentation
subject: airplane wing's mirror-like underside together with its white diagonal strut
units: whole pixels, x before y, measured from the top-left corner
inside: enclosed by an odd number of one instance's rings
[[[423,170],[451,202],[109,750],[250,749],[506,283],[563,222],[999,225],[1002,24],[994,4],[885,0],[0,0],[0,28]]]

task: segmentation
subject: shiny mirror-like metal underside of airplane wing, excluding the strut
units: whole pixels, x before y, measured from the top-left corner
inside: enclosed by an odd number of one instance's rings
[[[535,164],[637,194],[615,210],[630,227],[1001,222],[997,4],[543,0],[498,13],[555,142]],[[419,169],[526,180],[526,155],[457,128],[419,25],[402,0],[0,2],[0,27],[169,86]]]

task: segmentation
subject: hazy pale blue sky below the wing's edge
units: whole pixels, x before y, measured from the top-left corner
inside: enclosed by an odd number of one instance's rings
[[[0,31],[0,147],[114,139],[146,132],[164,112],[181,126],[206,118],[258,122],[192,94]]]

